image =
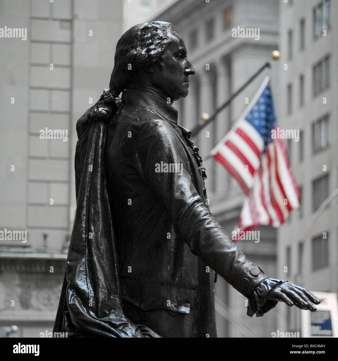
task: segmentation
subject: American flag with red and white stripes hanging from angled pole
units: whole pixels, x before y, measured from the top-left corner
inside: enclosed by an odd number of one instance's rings
[[[277,122],[266,76],[238,122],[211,151],[247,195],[236,231],[278,227],[299,207],[300,191],[286,147],[283,139],[273,139],[273,129],[277,131]]]

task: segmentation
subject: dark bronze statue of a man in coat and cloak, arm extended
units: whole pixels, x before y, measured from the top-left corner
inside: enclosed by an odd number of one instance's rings
[[[268,278],[210,213],[202,158],[171,105],[193,74],[170,23],[133,26],[117,43],[110,90],[77,122],[77,211],[55,332],[217,337],[215,272],[249,299],[248,316],[278,301],[320,303]]]

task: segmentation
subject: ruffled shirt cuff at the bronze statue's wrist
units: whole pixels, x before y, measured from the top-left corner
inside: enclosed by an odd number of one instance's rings
[[[274,308],[278,301],[266,300],[265,297],[273,287],[284,282],[287,281],[274,278],[265,278],[262,280],[262,282],[255,287],[249,298],[247,315],[252,317],[256,313],[256,317],[262,317],[264,313]]]

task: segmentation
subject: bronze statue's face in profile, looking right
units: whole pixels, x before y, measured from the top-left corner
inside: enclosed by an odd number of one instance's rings
[[[195,71],[187,58],[187,48],[181,36],[172,32],[169,38],[171,42],[162,54],[162,67],[154,66],[151,82],[174,101],[188,95],[189,75],[195,74]]]

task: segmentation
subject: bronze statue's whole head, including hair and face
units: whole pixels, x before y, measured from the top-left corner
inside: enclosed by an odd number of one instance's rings
[[[188,94],[195,73],[174,26],[152,21],[127,30],[117,42],[110,90],[119,95],[131,82],[148,82],[171,101]]]

